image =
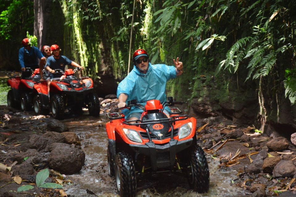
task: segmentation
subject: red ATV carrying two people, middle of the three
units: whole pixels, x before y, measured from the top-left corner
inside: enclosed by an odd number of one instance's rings
[[[50,99],[48,99],[48,87],[46,82],[37,83],[34,86],[34,111],[35,114],[43,113],[44,109],[50,109],[55,119],[63,119],[66,110],[73,114],[81,114],[82,107],[87,107],[90,115],[100,115],[100,102],[94,92],[94,83],[90,77],[76,78],[74,70],[65,72],[56,69],[60,78],[54,78],[50,83]]]

